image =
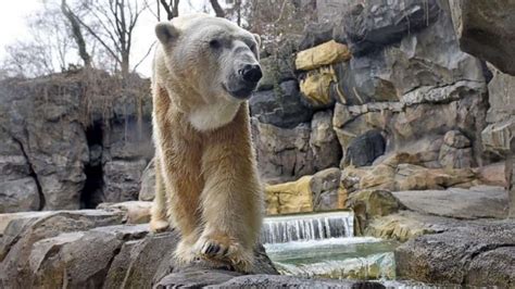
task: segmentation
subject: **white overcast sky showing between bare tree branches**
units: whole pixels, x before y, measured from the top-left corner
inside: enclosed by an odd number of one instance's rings
[[[145,3],[143,0],[141,4]],[[151,3],[155,1],[149,1]],[[224,3],[225,1],[221,1]],[[28,33],[27,18],[30,14],[43,8],[41,0],[3,0],[0,9],[0,60],[5,56],[5,46],[30,37]],[[209,0],[183,0],[179,5],[179,14],[200,12],[211,9]],[[163,12],[162,12],[163,13]],[[163,15],[161,15],[162,18]],[[154,26],[156,20],[151,13],[145,13],[139,20],[135,32],[135,43],[133,46],[131,62],[135,64],[147,53],[149,46],[154,41]],[[150,76],[151,55],[138,67],[138,72]]]

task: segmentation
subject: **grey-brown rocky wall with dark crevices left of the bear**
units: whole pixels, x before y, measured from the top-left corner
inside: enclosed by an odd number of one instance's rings
[[[137,199],[153,154],[150,101],[88,95],[86,79],[58,74],[0,85],[0,213]]]

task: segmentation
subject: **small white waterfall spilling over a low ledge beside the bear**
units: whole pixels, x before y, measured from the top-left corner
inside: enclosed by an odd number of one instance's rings
[[[264,243],[282,243],[353,237],[353,222],[351,212],[266,217],[261,240]]]

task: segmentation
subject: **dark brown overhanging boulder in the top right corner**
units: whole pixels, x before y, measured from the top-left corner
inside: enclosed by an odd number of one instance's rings
[[[451,0],[450,4],[461,49],[515,75],[515,3]]]

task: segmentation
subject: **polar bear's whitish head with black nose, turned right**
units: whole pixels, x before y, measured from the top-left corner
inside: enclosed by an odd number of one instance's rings
[[[155,34],[166,80],[196,91],[204,103],[246,100],[262,77],[259,36],[225,18],[179,16],[159,23]]]

